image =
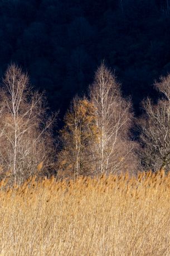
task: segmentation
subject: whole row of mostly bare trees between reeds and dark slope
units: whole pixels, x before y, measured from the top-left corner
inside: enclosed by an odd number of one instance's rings
[[[35,174],[77,178],[168,171],[170,75],[154,87],[159,100],[143,100],[143,114],[136,118],[114,72],[101,63],[88,94],[75,96],[54,136],[57,114],[50,114],[45,94],[35,91],[28,75],[11,64],[0,92],[1,178],[23,183]]]

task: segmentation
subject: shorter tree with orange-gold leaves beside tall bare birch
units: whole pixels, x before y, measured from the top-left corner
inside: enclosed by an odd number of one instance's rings
[[[62,150],[58,156],[59,176],[95,173],[93,147],[98,139],[95,108],[88,99],[76,97],[60,131]]]

